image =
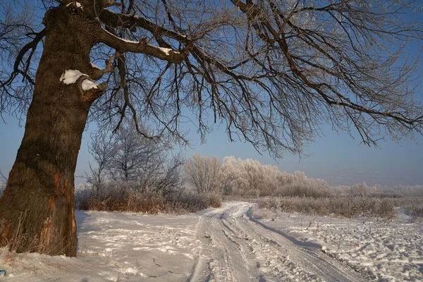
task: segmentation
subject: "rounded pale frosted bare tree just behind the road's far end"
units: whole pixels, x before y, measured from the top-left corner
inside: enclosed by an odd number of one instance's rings
[[[221,163],[217,157],[210,159],[200,154],[192,155],[192,159],[185,162],[185,173],[190,185],[198,193],[220,192]]]

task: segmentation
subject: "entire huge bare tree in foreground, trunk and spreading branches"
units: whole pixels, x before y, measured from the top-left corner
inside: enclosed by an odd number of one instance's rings
[[[212,120],[275,157],[302,152],[322,122],[367,145],[422,133],[418,60],[403,56],[422,39],[417,0],[78,2],[42,1],[42,23],[13,61],[1,57],[1,111],[31,104],[0,245],[23,230],[18,251],[76,254],[74,172],[89,117],[118,128],[128,115],[151,123],[152,135],[136,128],[145,137],[185,141],[186,109],[200,135]]]

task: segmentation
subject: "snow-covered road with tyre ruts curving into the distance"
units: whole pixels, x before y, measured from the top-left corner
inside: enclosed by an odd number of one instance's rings
[[[252,204],[232,202],[201,214],[202,253],[190,281],[366,281],[353,269],[252,219]]]

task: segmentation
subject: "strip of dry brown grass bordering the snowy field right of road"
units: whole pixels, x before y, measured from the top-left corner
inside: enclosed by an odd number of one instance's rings
[[[369,197],[263,197],[255,202],[259,208],[274,209],[280,212],[298,212],[301,214],[322,216],[379,217],[391,219],[396,215],[391,199]]]

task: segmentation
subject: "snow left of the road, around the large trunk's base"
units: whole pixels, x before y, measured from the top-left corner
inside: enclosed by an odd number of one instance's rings
[[[200,241],[198,216],[75,212],[78,257],[0,250],[1,281],[186,281]]]

